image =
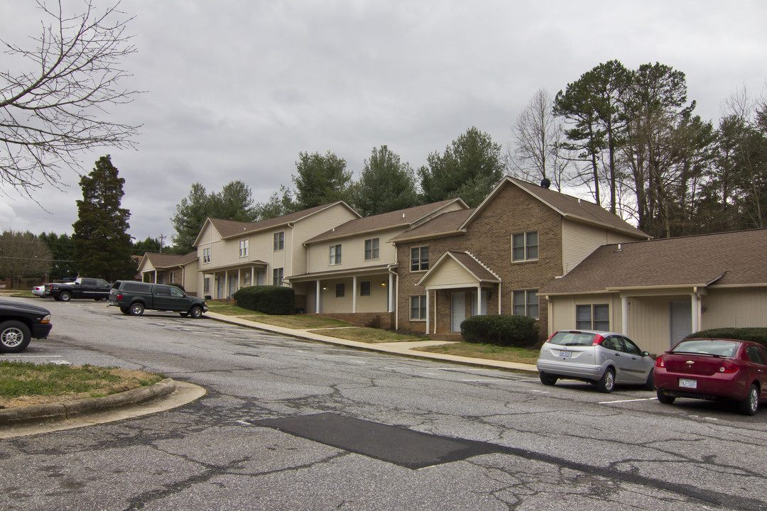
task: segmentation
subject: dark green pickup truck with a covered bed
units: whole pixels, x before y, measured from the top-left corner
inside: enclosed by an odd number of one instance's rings
[[[132,280],[117,280],[112,285],[109,306],[118,306],[123,314],[133,316],[141,316],[146,309],[170,310],[193,318],[208,312],[205,300],[189,296],[176,286]]]

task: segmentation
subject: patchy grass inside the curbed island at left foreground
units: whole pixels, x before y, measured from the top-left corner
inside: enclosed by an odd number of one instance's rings
[[[98,398],[153,385],[162,375],[93,365],[0,362],[0,408]]]

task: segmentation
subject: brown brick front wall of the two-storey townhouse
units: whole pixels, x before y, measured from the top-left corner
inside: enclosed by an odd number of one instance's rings
[[[410,321],[410,296],[424,294],[416,282],[425,272],[410,272],[410,247],[429,246],[430,267],[448,250],[469,251],[495,274],[501,277],[503,314],[512,313],[514,290],[537,290],[549,280],[562,274],[562,218],[557,212],[533,198],[515,185],[506,183],[486,208],[469,224],[465,234],[435,238],[397,245],[397,274],[400,285],[399,328],[426,330],[423,321]],[[538,231],[538,260],[512,263],[512,234]],[[459,290],[438,290],[430,296],[430,323],[433,325],[436,298],[437,332],[448,332],[450,326],[450,293]],[[471,293],[466,292],[466,317],[471,315]],[[498,310],[497,292],[493,291],[488,312]],[[540,300],[539,336],[548,331],[548,306]],[[430,331],[433,327],[430,328]]]

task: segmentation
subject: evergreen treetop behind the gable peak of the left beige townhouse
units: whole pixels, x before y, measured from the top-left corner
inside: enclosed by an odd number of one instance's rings
[[[298,153],[295,162],[298,175],[293,176],[298,210],[314,208],[328,202],[350,201],[351,170],[346,160],[328,151],[324,156],[319,152]]]

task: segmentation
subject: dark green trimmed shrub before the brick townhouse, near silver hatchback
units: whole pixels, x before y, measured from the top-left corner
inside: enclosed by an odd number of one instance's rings
[[[461,323],[466,342],[522,348],[538,342],[538,323],[527,316],[510,314],[472,316]]]

